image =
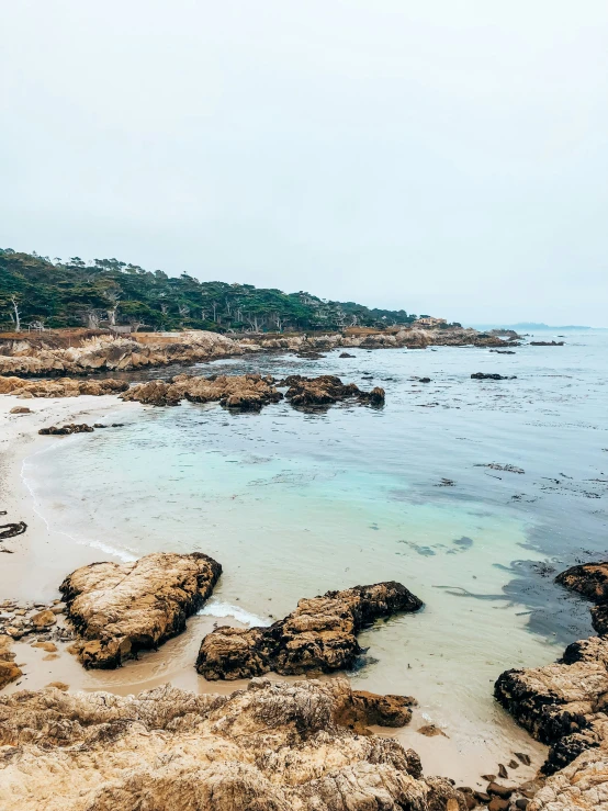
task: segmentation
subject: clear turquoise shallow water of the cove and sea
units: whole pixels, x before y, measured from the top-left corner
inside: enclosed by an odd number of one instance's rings
[[[590,632],[587,607],[553,585],[553,570],[608,547],[608,333],[565,340],[514,356],[349,350],[356,358],[201,364],[336,373],[382,385],[386,406],[142,408],[120,430],[53,440],[26,474],[52,526],[82,542],[123,559],[219,560],[213,616],[235,606],[272,621],[303,596],[401,581],[425,609],[362,634],[353,679],[416,696],[451,739],[484,747],[509,723],[492,701],[498,674],[552,661]],[[473,381],[476,371],[517,380]],[[489,463],[525,473],[480,466]]]

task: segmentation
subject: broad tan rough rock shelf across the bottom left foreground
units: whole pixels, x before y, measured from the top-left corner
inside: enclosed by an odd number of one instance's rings
[[[48,688],[0,698],[7,811],[464,811],[396,741],[341,722],[346,679],[230,696]]]

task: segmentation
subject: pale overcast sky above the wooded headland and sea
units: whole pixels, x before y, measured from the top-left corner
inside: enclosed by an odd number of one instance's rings
[[[0,246],[608,326],[606,0],[0,0]]]

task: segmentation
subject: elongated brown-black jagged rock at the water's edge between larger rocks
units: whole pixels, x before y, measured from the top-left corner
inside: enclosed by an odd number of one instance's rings
[[[202,641],[196,669],[207,679],[236,679],[270,671],[299,675],[348,668],[362,653],[357,641],[362,628],[421,606],[394,581],[327,592],[300,600],[295,611],[269,628],[216,629]]]

